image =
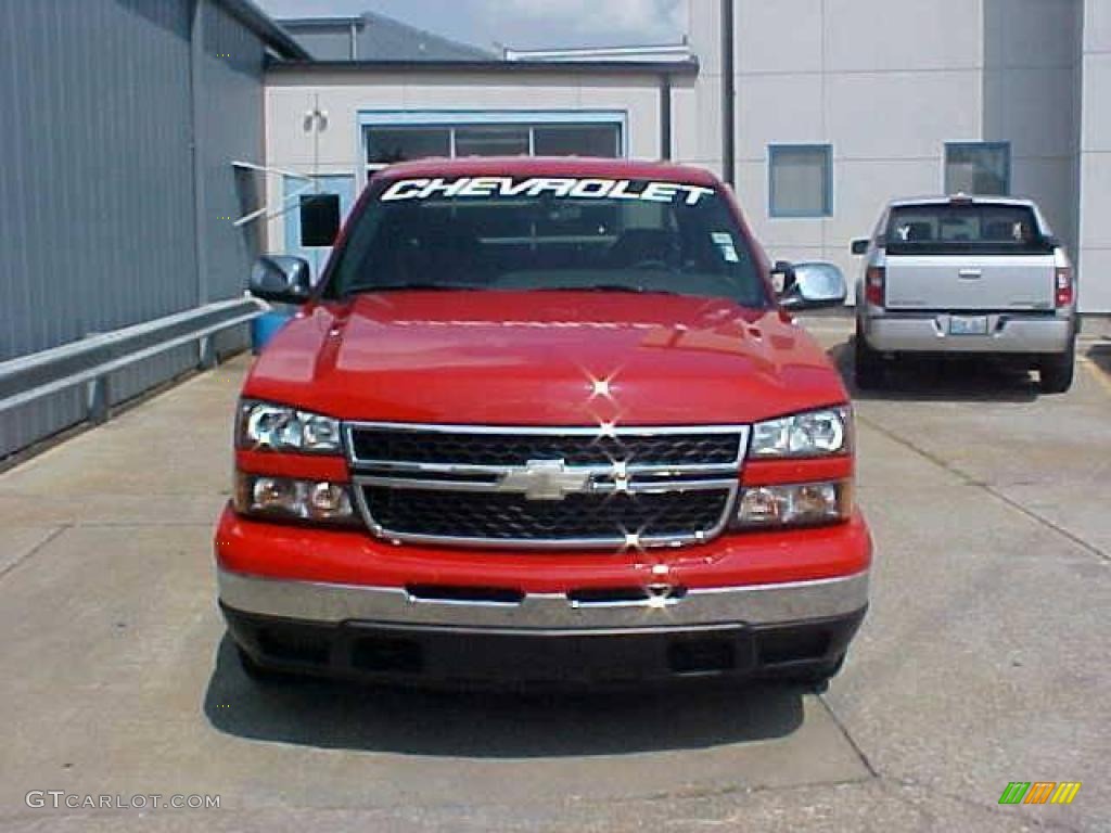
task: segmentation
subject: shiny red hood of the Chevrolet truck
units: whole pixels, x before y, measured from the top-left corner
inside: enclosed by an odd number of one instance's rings
[[[391,292],[307,308],[244,397],[341,419],[732,424],[844,402],[777,310],[598,292]]]

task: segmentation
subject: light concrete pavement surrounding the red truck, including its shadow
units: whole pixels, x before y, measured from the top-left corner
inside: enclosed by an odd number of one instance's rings
[[[842,364],[844,324],[813,329]],[[259,689],[213,606],[246,358],[0,475],[0,829],[1111,830],[1111,388],[949,369],[857,401],[873,606],[799,689]],[[1071,806],[997,804],[1082,781]],[[27,806],[30,790],[216,810]]]

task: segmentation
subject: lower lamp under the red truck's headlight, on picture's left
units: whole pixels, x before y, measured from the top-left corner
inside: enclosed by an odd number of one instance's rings
[[[236,472],[236,511],[288,521],[352,524],[358,515],[344,483]]]

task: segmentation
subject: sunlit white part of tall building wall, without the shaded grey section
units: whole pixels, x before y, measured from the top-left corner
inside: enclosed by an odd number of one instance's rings
[[[707,26],[719,6],[692,0],[691,37],[699,58],[720,67],[720,34]],[[738,197],[772,258],[829,260],[851,280],[850,240],[871,231],[891,197],[941,191],[944,142],[980,137],[981,0],[734,9]],[[771,217],[772,144],[832,145],[830,217]]]

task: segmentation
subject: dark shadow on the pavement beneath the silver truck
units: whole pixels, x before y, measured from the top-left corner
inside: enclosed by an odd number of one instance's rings
[[[853,379],[853,341],[825,351],[854,400],[1033,402],[1035,377],[990,359],[907,360],[887,370],[881,388],[862,391]]]

